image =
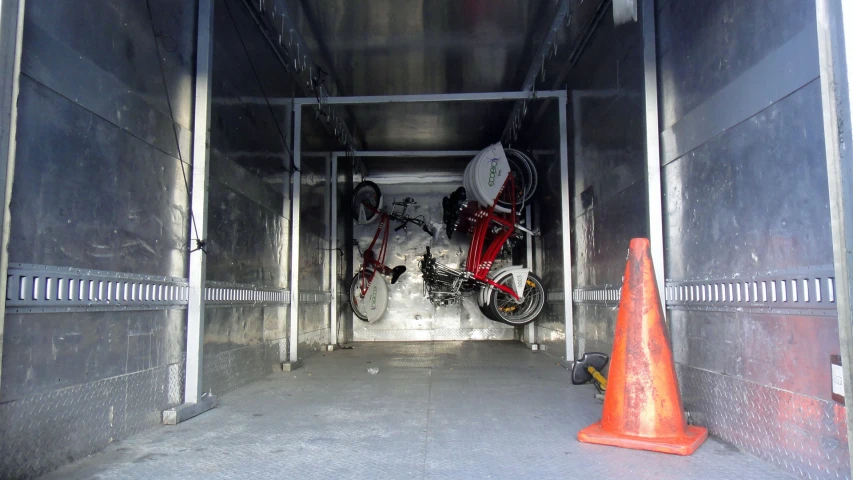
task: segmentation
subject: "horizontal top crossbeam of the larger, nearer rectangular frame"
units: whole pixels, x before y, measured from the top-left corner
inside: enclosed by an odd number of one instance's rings
[[[536,98],[565,98],[563,90],[536,92]],[[477,93],[438,93],[427,95],[374,95],[356,97],[329,97],[326,105],[367,105],[376,103],[429,103],[429,102],[487,102],[530,100],[533,92],[477,92]],[[287,99],[271,99],[271,104]],[[295,98],[296,105],[317,105],[316,98]]]

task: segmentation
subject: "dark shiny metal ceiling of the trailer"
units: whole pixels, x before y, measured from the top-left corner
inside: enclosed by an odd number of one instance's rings
[[[345,96],[517,91],[556,5],[556,0],[287,2],[312,57],[329,73],[330,90]],[[500,138],[511,108],[511,102],[444,103],[348,111],[359,149],[480,149]]]

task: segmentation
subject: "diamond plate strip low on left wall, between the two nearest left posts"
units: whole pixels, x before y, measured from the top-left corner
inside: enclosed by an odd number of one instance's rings
[[[273,372],[279,344],[263,342],[204,356],[204,390],[225,395]]]

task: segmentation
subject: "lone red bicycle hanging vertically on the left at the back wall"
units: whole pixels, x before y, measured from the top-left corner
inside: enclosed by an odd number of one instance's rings
[[[361,182],[353,190],[352,211],[356,223],[369,224],[377,219],[379,220],[376,233],[373,235],[373,240],[367,250],[361,252],[359,249],[363,261],[350,284],[350,306],[361,320],[373,323],[382,318],[388,308],[388,285],[383,276],[391,276],[391,284],[393,285],[406,272],[404,265],[393,268],[385,265],[391,221],[400,223],[394,229],[395,232],[412,223],[421,227],[430,236],[435,234],[427,225],[425,218],[406,215],[409,207],[416,204],[417,202],[413,198],[406,197],[402,202],[393,202],[391,211],[385,212],[382,210],[382,192],[375,183]],[[375,253],[374,248],[380,234],[382,234],[382,244],[379,246],[379,253]]]

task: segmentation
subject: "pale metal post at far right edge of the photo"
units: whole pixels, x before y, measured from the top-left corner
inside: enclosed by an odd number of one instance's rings
[[[853,4],[817,0],[817,32],[838,337],[848,405],[847,445],[853,464]]]

